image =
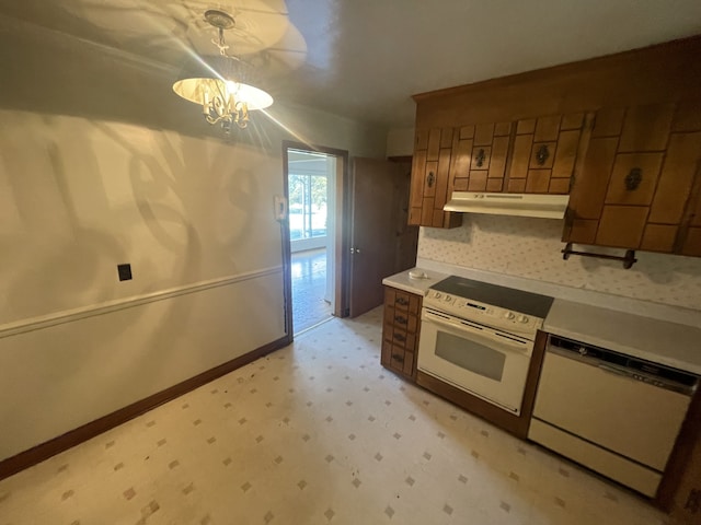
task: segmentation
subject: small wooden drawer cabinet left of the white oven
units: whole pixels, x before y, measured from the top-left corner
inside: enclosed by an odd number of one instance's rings
[[[381,363],[409,380],[416,380],[416,352],[422,298],[384,287]]]

